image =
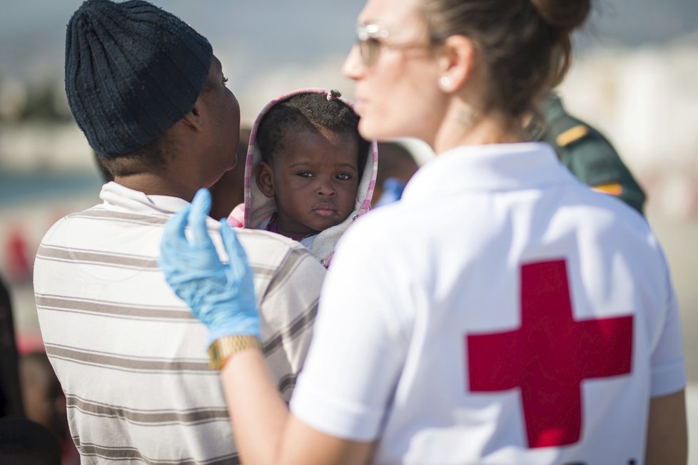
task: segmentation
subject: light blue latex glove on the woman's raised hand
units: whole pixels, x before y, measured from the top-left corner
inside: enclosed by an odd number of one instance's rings
[[[227,335],[260,337],[253,272],[233,228],[221,220],[221,237],[230,258],[223,265],[208,235],[211,193],[200,189],[191,205],[165,224],[158,264],[172,290],[208,327],[208,344]],[[191,229],[191,240],[184,235]]]

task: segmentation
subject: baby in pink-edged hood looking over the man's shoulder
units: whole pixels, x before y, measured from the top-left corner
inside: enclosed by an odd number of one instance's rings
[[[358,120],[338,91],[301,89],[268,103],[252,128],[245,203],[228,224],[298,240],[328,267],[375,187],[378,150]]]

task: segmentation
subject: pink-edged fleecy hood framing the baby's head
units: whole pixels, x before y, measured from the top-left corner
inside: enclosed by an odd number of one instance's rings
[[[257,116],[252,133],[250,136],[250,144],[248,145],[247,158],[245,161],[245,203],[238,205],[228,216],[228,224],[236,228],[253,228],[258,229],[264,221],[270,218],[276,212],[276,204],[273,198],[266,197],[257,187],[256,177],[253,175],[257,163],[262,160],[256,144],[257,128],[263,116],[277,103],[285,99],[298,95],[299,93],[323,93],[328,94],[329,91],[323,88],[303,88],[297,91],[284,93],[278,96],[273,101],[267,103],[262,111]],[[354,108],[353,104],[344,98],[340,100],[346,103],[350,108]],[[353,212],[342,223],[321,231],[318,237],[315,238],[310,252],[320,260],[320,263],[328,267],[332,255],[335,250],[335,245],[345,232],[348,226],[361,215],[367,213],[371,208],[371,198],[373,197],[373,188],[375,187],[375,176],[378,170],[378,145],[375,140],[370,144],[370,152],[366,157],[366,165],[363,170],[363,175],[359,181],[356,200],[354,203]]]

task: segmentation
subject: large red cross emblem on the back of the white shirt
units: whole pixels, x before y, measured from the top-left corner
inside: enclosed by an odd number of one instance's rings
[[[630,372],[632,316],[575,321],[565,260],[521,267],[521,327],[467,335],[470,392],[521,391],[529,448],[574,444],[582,379]]]

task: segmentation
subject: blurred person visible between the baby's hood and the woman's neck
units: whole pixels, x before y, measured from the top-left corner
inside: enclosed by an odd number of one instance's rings
[[[405,185],[419,169],[410,150],[399,142],[379,142],[378,153],[378,175],[371,199],[373,208],[400,200]]]

